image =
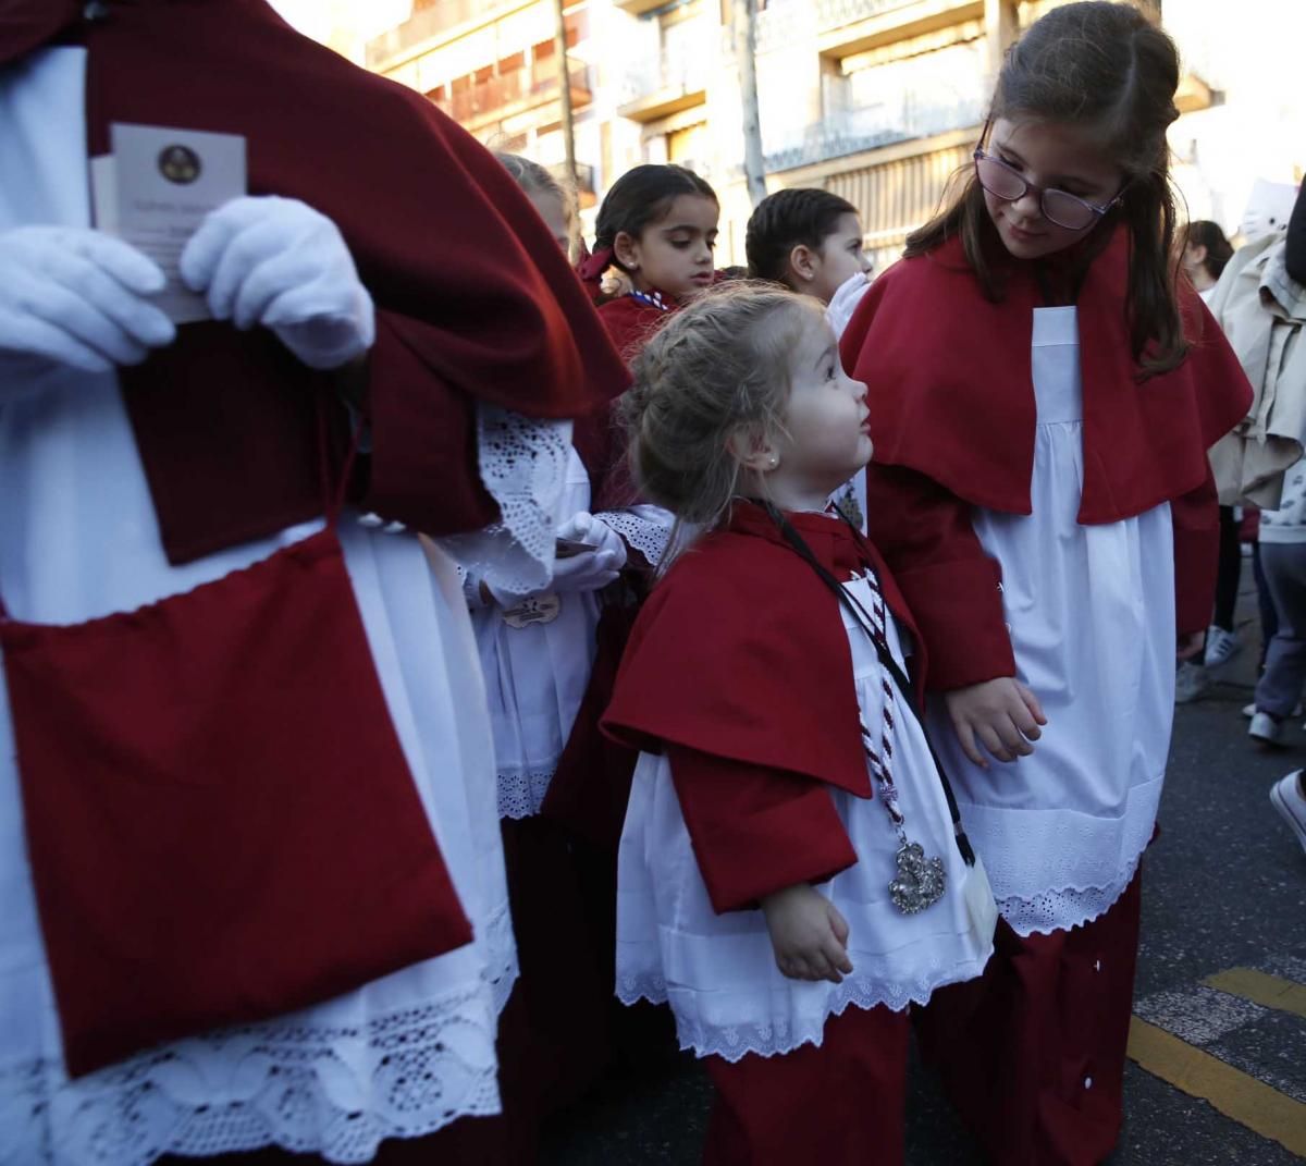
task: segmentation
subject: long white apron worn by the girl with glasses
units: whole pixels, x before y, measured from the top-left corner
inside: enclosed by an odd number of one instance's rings
[[[961,818],[1020,935],[1075,927],[1119,898],[1152,837],[1174,716],[1169,503],[1118,523],[1079,524],[1084,426],[1074,307],[1034,310],[1030,359],[1033,512],[977,508],[973,522],[1002,563],[1016,675],[1049,723],[1032,757],[985,771],[961,752],[942,699],[931,710]]]

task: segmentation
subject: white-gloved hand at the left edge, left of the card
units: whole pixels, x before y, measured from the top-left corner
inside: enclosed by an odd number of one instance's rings
[[[89,227],[0,233],[0,356],[88,373],[138,365],[176,337],[142,298],[165,282],[151,259]]]

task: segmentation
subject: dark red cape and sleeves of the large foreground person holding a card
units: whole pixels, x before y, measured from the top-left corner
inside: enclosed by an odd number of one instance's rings
[[[263,0],[9,0],[0,60],[59,34],[89,50],[90,153],[111,122],[242,133],[249,193],[332,218],[377,307],[366,508],[432,535],[496,516],[475,404],[577,417],[628,376],[547,229],[502,166],[428,101],[295,33]],[[121,382],[172,562],[321,512],[329,375],[264,329],[189,324]],[[340,434],[343,425],[338,424]]]

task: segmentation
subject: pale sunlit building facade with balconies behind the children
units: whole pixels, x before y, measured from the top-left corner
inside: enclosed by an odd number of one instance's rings
[[[949,176],[969,162],[1007,47],[1060,3],[757,0],[768,188],[818,186],[842,195],[861,212],[876,267],[892,261],[906,234],[939,205]],[[1138,3],[1155,8],[1153,0]],[[1168,9],[1186,3],[1165,0]],[[565,4],[565,84],[586,226],[598,196],[624,170],[679,162],[721,196],[718,261],[743,263],[751,205],[734,8],[731,0]],[[1213,17],[1203,25],[1192,12],[1182,14],[1208,67],[1212,54],[1218,56],[1218,46],[1203,39],[1218,37]],[[564,71],[554,48],[556,22],[556,0],[415,0],[405,21],[368,42],[366,63],[427,94],[487,145],[560,171]],[[1212,132],[1204,127],[1228,137],[1229,119],[1209,111],[1230,95],[1187,75],[1185,118],[1171,135],[1181,182],[1196,193],[1195,217],[1211,214],[1229,227],[1241,213],[1239,186],[1250,188],[1256,175],[1243,174],[1246,166],[1212,174],[1191,161]]]

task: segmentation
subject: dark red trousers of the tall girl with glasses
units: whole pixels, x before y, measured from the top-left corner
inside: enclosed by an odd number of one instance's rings
[[[916,1014],[926,1064],[994,1166],[1093,1166],[1115,1145],[1139,877],[1071,931],[1021,937],[999,922],[985,974]]]

